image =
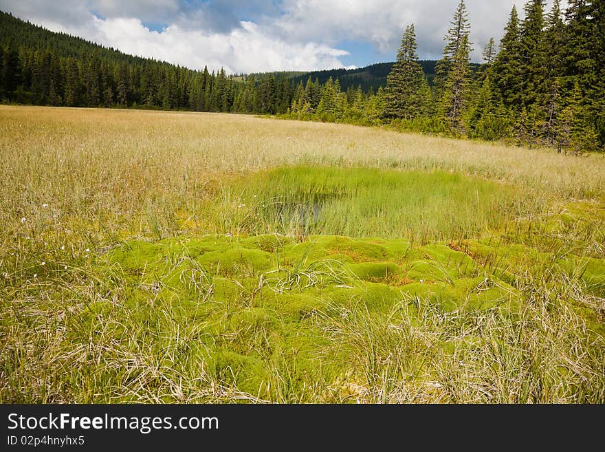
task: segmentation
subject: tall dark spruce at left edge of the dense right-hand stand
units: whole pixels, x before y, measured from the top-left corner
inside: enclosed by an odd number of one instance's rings
[[[500,52],[492,65],[494,87],[507,107],[516,106],[520,101],[520,31],[516,7],[511,10],[505,34],[500,41]]]

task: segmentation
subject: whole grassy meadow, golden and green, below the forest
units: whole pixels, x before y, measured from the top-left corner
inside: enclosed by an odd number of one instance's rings
[[[0,107],[0,402],[605,402],[605,155]]]

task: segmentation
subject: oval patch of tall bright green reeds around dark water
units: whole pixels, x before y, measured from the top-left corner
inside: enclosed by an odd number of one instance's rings
[[[518,214],[512,186],[444,171],[294,166],[226,184],[218,228],[238,233],[461,239]]]

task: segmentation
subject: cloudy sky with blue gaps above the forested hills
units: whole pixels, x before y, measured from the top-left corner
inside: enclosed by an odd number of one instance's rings
[[[0,0],[0,10],[127,54],[229,74],[394,61],[415,24],[421,59],[438,59],[459,0]],[[549,2],[549,6],[552,0]],[[563,2],[564,3],[564,2]],[[500,41],[513,5],[466,0],[473,61]]]

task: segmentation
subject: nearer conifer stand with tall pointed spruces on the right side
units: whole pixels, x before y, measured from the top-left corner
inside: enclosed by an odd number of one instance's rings
[[[605,144],[605,2],[530,0],[513,8],[499,50],[470,64],[470,23],[459,3],[434,83],[419,64],[414,26],[406,28],[386,88],[341,92],[338,80],[295,91],[290,118],[388,123],[396,129],[509,140],[579,152]]]

